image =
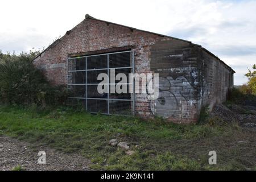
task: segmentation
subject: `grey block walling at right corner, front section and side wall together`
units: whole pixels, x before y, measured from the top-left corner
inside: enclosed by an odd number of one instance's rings
[[[150,69],[159,73],[154,114],[174,122],[196,122],[203,106],[226,101],[233,71],[201,46],[166,40],[151,46]]]

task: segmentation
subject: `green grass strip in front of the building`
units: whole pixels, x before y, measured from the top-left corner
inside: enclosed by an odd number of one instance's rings
[[[68,107],[35,111],[0,106],[0,115],[0,135],[79,153],[92,160],[92,169],[230,169],[234,166],[233,157],[217,167],[209,166],[208,151],[216,146],[216,141],[220,142],[218,137],[232,139],[234,134],[241,133],[240,127],[234,125],[178,125],[160,118],[93,115]],[[113,138],[128,142],[135,153],[126,155],[121,148],[109,146]],[[230,148],[222,151],[228,156]]]

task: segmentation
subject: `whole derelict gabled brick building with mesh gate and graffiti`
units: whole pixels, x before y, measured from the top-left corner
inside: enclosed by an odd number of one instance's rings
[[[68,85],[69,102],[92,113],[159,115],[195,122],[204,105],[226,100],[233,69],[207,49],[187,40],[85,19],[38,55],[34,64],[52,84]],[[159,98],[147,93],[99,94],[99,73],[159,73]]]

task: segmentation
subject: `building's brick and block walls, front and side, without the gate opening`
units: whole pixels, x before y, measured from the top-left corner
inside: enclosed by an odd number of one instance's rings
[[[207,103],[205,88],[214,93],[209,97],[214,103],[226,98],[217,90],[225,85],[223,92],[226,92],[232,85],[230,69],[191,42],[97,20],[89,15],[36,57],[34,64],[44,69],[52,84],[67,85],[69,56],[121,50],[134,51],[135,73],[160,75],[158,100],[148,100],[147,94],[135,95],[135,110],[142,117],[160,115],[177,122],[196,121],[201,106]],[[222,69],[216,72],[218,67]],[[218,75],[221,78],[216,78]],[[219,99],[216,96],[220,96]]]

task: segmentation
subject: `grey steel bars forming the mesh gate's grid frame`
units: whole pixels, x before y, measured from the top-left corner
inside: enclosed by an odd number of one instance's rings
[[[115,68],[109,68],[109,55],[113,55],[113,54],[118,54],[118,53],[125,53],[125,52],[130,52],[131,53],[131,66],[130,67],[115,67]],[[107,55],[108,56],[108,67],[107,68],[98,68],[98,69],[87,69],[87,58],[88,57],[96,57],[96,56],[102,56],[102,55]],[[108,113],[102,113],[102,114],[106,114],[106,115],[112,115],[110,113],[110,108],[109,108],[109,101],[129,101],[131,102],[131,113],[133,115],[135,115],[135,79],[133,78],[132,81],[132,85],[133,85],[133,93],[130,93],[130,99],[114,99],[114,98],[109,98],[109,94],[108,93],[108,98],[92,98],[92,97],[88,97],[88,85],[98,85],[98,84],[88,84],[88,77],[87,77],[87,72],[88,71],[108,71],[108,90],[109,90],[109,86],[113,85],[111,83],[109,83],[109,79],[110,79],[110,70],[111,69],[131,69],[132,73],[135,73],[135,64],[134,64],[134,51],[121,51],[121,52],[112,52],[112,53],[102,53],[102,54],[97,54],[97,55],[88,55],[88,56],[78,56],[78,57],[68,57],[67,60],[67,65],[68,65],[68,69],[69,69],[69,62],[73,59],[79,59],[79,58],[83,58],[85,57],[85,69],[82,70],[68,70],[68,80],[71,79],[71,77],[69,77],[69,73],[72,72],[85,72],[85,84],[67,84],[68,88],[69,86],[73,86],[73,85],[84,85],[85,86],[85,97],[68,97],[71,99],[77,99],[77,100],[85,100],[85,109],[88,110],[88,104],[87,101],[88,100],[105,100],[108,102]],[[115,84],[114,84],[115,85]],[[130,85],[130,83],[126,83],[126,85]],[[90,113],[94,113],[97,114],[97,112],[90,112]],[[123,115],[123,114],[122,114]]]

